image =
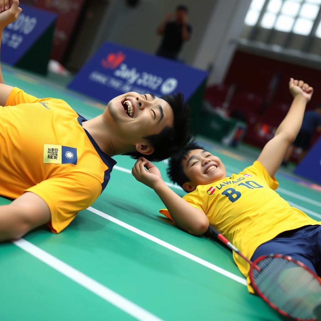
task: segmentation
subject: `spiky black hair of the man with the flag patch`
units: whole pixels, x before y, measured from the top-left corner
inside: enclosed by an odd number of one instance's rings
[[[184,100],[184,94],[178,91],[175,94],[164,95],[160,97],[169,103],[174,113],[173,126],[166,126],[159,134],[153,134],[143,137],[154,148],[150,155],[144,155],[140,152],[128,152],[131,158],[138,159],[144,157],[149,161],[162,161],[168,159],[174,154],[181,152],[184,146],[191,139],[189,132],[189,106]]]

